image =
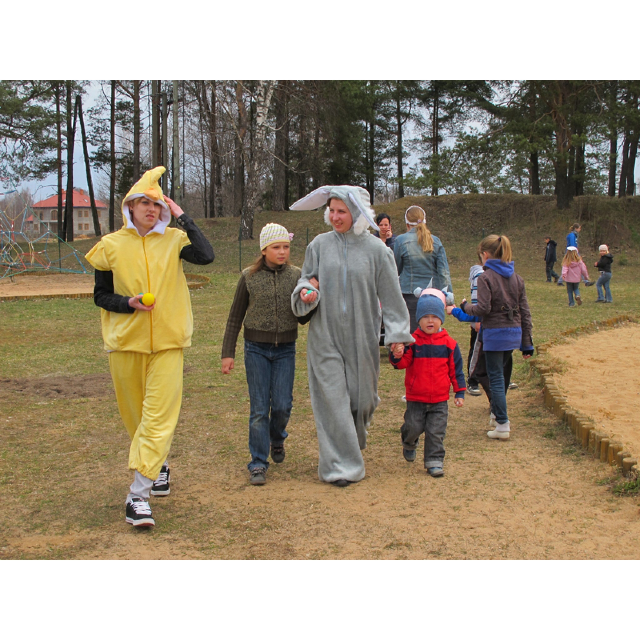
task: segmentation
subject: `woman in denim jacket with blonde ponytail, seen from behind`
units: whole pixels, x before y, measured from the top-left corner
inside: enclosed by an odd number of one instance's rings
[[[411,319],[411,333],[418,328],[415,320],[418,299],[413,294],[417,287],[448,287],[453,292],[447,253],[440,238],[431,235],[425,220],[426,214],[422,207],[409,207],[404,213],[406,233],[398,236],[394,245],[400,289]]]

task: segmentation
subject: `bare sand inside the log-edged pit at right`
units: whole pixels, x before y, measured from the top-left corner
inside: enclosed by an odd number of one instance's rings
[[[628,324],[548,350],[562,373],[554,379],[568,403],[596,420],[627,451],[640,456],[640,326]]]

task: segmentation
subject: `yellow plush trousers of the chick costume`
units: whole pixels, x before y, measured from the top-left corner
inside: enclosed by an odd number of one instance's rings
[[[171,448],[182,403],[182,349],[111,351],[118,410],[131,438],[129,468],[156,480]]]

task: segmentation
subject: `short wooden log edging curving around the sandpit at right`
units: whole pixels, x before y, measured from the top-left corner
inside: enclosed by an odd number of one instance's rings
[[[623,323],[637,323],[636,316],[617,316],[607,320],[595,320],[584,326],[575,327],[573,329],[559,333],[556,339],[550,340],[545,344],[540,344],[536,351],[538,358],[530,360],[530,364],[540,374],[540,380],[543,388],[543,398],[545,406],[554,413],[559,419],[563,420],[567,428],[572,432],[575,441],[596,460],[607,463],[611,466],[615,465],[620,468],[625,476],[640,476],[640,467],[638,465],[637,456],[625,449],[625,445],[611,438],[605,431],[596,428],[593,418],[580,413],[567,403],[566,397],[561,394],[557,387],[553,374],[545,364],[544,355],[554,344],[559,342],[562,337],[575,337],[579,333],[593,333],[601,328],[612,328]]]

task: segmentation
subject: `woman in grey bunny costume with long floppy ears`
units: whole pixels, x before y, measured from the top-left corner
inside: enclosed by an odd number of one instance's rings
[[[360,451],[380,403],[381,312],[385,345],[395,348],[414,339],[393,252],[367,229],[378,229],[369,193],[349,185],[324,186],[289,208],[310,211],[324,204],[324,220],[333,230],[308,245],[291,305],[299,317],[316,309],[309,323],[307,365],[318,476],[347,486],[364,478]]]

